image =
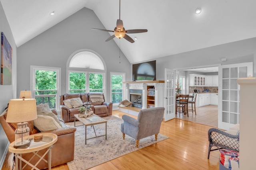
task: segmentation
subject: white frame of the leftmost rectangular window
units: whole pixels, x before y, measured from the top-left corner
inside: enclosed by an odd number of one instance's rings
[[[36,70],[45,71],[56,71],[56,110],[60,110],[60,100],[59,96],[61,94],[61,68],[59,67],[46,67],[46,66],[30,66],[30,91],[32,93],[32,98],[35,98],[36,90]]]

